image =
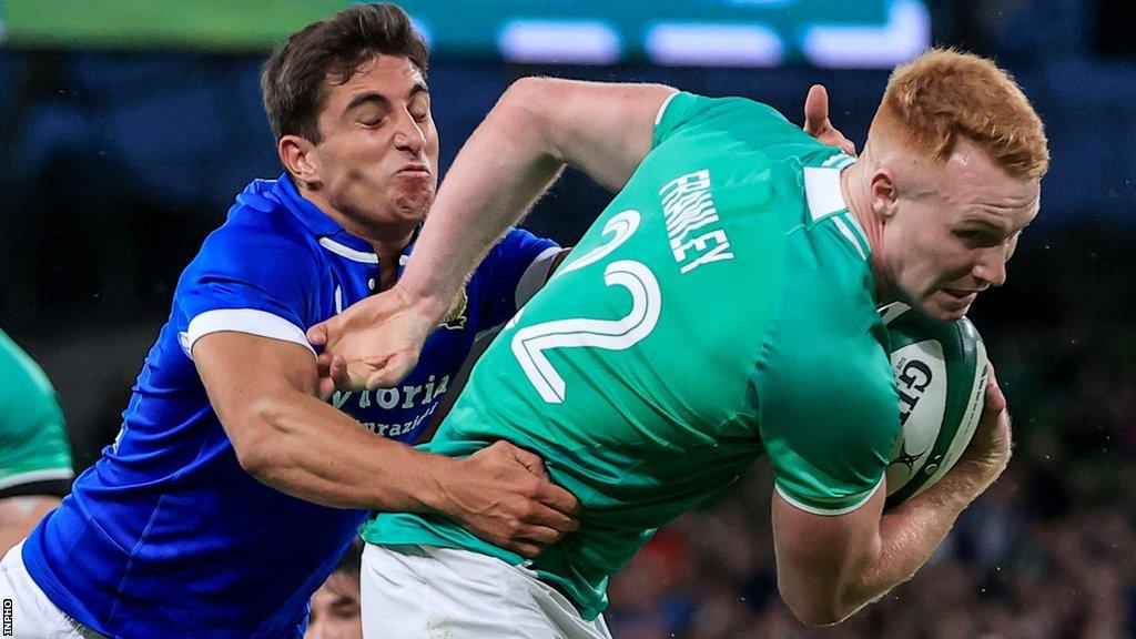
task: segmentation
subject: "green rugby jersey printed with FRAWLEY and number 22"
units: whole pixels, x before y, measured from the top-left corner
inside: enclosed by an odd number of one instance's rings
[[[579,498],[582,528],[524,564],[585,619],[655,529],[762,453],[776,489],[840,514],[899,434],[868,242],[825,147],[768,106],[679,93],[654,147],[478,362],[426,450],[507,439]],[[379,515],[374,543],[521,557],[433,516]]]

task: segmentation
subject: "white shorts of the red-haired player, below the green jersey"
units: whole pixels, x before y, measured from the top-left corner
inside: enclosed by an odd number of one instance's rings
[[[520,566],[431,546],[362,553],[365,639],[611,639],[603,617],[576,608]]]

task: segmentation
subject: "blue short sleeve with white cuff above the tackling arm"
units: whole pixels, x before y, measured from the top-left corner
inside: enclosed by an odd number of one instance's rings
[[[300,236],[233,224],[214,232],[182,274],[174,315],[186,355],[201,337],[237,331],[300,343],[317,323],[320,268]]]

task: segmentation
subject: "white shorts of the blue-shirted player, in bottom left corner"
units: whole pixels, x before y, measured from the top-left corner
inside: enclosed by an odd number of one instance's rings
[[[20,541],[0,562],[0,599],[3,599],[3,629],[0,630],[0,636],[16,639],[103,638],[64,614],[48,599],[27,574],[20,555],[23,547],[24,542]]]

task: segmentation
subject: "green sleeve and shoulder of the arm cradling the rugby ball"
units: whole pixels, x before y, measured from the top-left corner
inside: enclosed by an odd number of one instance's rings
[[[784,283],[752,384],[777,491],[838,515],[880,486],[900,431],[899,396],[866,271],[837,232],[820,231],[788,250],[787,271],[803,276]]]

